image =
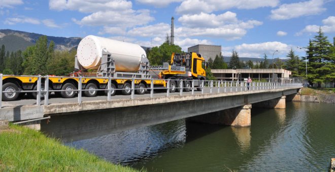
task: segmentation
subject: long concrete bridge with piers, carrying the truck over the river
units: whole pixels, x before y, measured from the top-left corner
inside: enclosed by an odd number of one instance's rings
[[[169,82],[168,80],[166,82]],[[251,125],[252,107],[285,108],[301,83],[204,81],[202,91],[170,93],[169,89],[147,88],[144,95],[22,99],[2,102],[0,118],[14,122],[37,121],[43,132],[73,140],[110,134],[188,118],[198,122],[233,126]],[[180,85],[184,88],[183,85]],[[120,89],[122,90],[122,89]],[[41,94],[41,91],[39,94]],[[163,92],[163,93],[162,93]],[[47,120],[43,120],[47,119]],[[36,123],[36,122],[35,122]]]

